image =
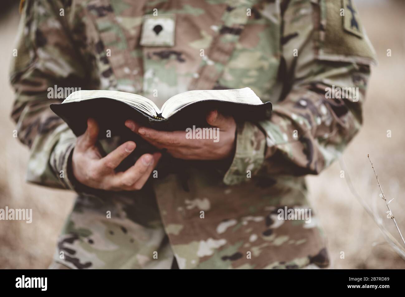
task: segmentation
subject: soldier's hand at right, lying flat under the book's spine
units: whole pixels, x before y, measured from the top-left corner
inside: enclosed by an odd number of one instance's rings
[[[232,157],[236,132],[234,118],[213,110],[209,112],[206,120],[213,128],[219,128],[218,142],[213,139],[188,139],[185,131],[166,132],[141,127],[132,120],[127,120],[125,125],[152,145],[160,149],[165,148],[178,159],[222,160]]]

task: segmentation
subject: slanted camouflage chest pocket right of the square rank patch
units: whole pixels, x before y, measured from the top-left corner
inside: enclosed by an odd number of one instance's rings
[[[245,29],[235,46],[218,88],[250,87],[266,102],[274,99],[273,88],[280,64],[280,2],[252,6]]]

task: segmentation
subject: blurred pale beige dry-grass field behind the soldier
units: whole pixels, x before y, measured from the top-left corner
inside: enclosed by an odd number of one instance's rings
[[[0,268],[47,268],[56,239],[73,204],[74,193],[28,185],[24,182],[28,149],[13,138],[10,119],[13,91],[9,62],[19,22],[18,2],[2,3],[0,11],[0,208],[32,208],[34,220],[0,221]],[[356,191],[382,224],[401,242],[367,154],[374,163],[390,207],[405,235],[405,1],[357,0],[364,27],[377,51],[379,65],[372,68],[364,107],[364,126],[343,155],[346,172]],[[387,57],[387,49],[392,56]],[[391,130],[392,137],[387,137]],[[310,176],[311,202],[328,238],[333,268],[405,268],[405,261],[386,243],[377,225],[364,211],[341,178],[335,162],[320,176]],[[344,252],[344,259],[341,255]]]

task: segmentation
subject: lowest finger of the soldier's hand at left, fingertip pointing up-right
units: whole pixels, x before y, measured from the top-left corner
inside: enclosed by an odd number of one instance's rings
[[[106,177],[108,187],[112,189],[129,189],[153,164],[153,155],[142,155],[136,163],[125,172]]]

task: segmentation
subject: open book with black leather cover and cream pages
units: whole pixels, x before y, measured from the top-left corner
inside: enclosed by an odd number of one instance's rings
[[[205,117],[210,110],[232,115],[236,120],[260,121],[269,117],[271,103],[262,103],[250,88],[187,91],[169,98],[161,108],[141,96],[119,91],[76,91],[62,104],[51,104],[76,135],[87,127],[87,118],[96,119],[100,129],[113,132],[124,129],[132,119],[154,129],[173,131],[196,125],[207,127]],[[100,130],[102,131],[102,130]]]

